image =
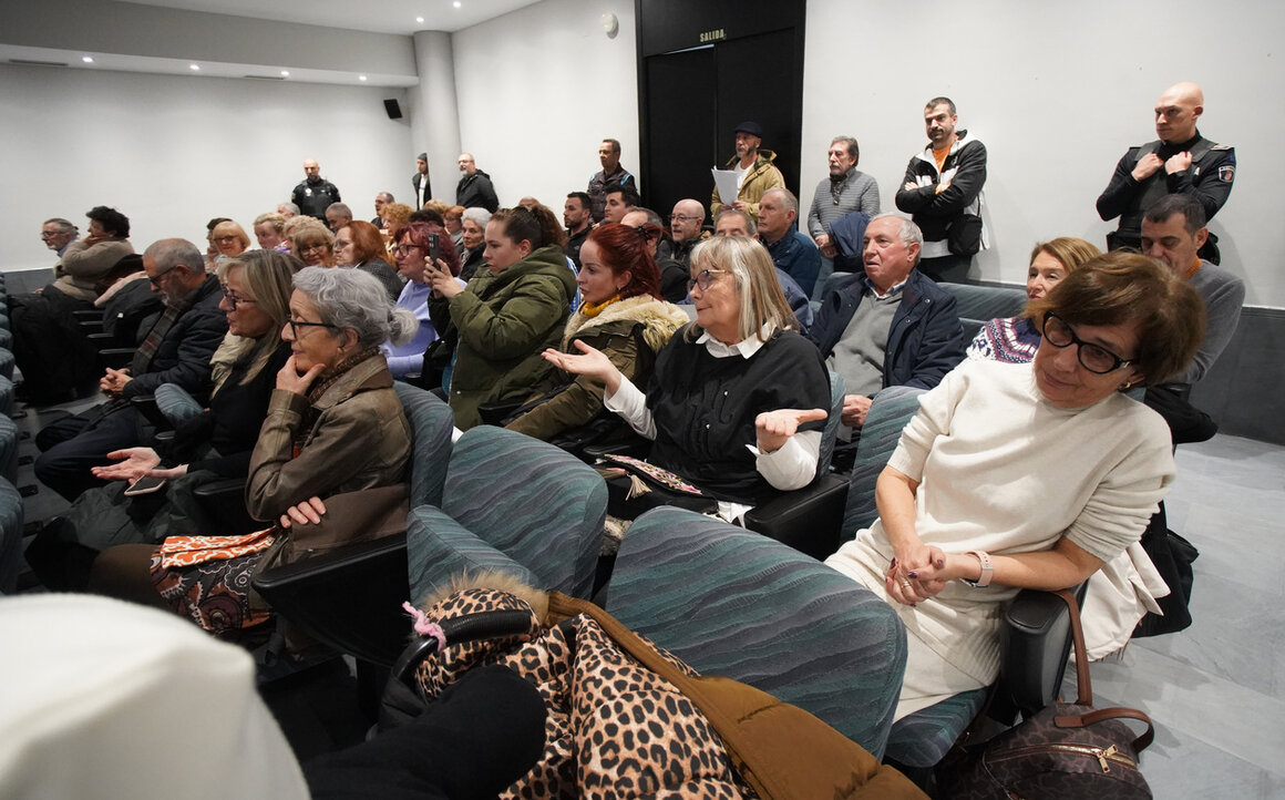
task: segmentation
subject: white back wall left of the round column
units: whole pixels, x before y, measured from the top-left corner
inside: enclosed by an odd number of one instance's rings
[[[40,224],[112,206],[141,251],[164,237],[204,247],[204,225],[251,223],[289,199],[316,158],[357,219],[375,193],[409,195],[406,120],[383,99],[403,90],[89,72],[0,64],[3,269],[51,266]],[[252,238],[253,234],[251,233]]]

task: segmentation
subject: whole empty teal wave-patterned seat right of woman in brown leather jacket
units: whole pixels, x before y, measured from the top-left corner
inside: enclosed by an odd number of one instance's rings
[[[441,507],[411,509],[411,601],[482,571],[589,597],[605,516],[594,468],[523,433],[472,428],[451,451]]]

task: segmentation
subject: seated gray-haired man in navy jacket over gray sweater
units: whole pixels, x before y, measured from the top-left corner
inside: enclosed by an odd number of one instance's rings
[[[915,264],[923,233],[912,221],[882,214],[864,237],[866,271],[821,300],[808,338],[843,376],[843,423],[858,430],[870,397],[887,386],[933,388],[964,360],[964,329],[955,296]]]

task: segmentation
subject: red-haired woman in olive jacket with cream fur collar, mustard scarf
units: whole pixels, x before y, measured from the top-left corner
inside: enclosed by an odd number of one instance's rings
[[[581,340],[601,350],[626,377],[646,386],[655,354],[687,315],[660,298],[660,273],[648,251],[648,239],[660,235],[654,225],[631,228],[608,224],[589,234],[580,251],[576,283],[583,298],[567,320],[562,349],[578,352]],[[549,440],[587,424],[603,412],[600,381],[554,370],[527,401],[526,413],[508,424],[536,439]]]

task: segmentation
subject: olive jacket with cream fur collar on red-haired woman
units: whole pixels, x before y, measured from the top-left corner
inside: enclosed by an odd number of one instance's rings
[[[672,302],[639,295],[613,302],[594,318],[577,311],[567,320],[562,349],[576,352],[573,341],[580,340],[595,350],[601,350],[626,378],[645,388],[651,378],[655,354],[664,347],[673,332],[690,319]],[[635,336],[635,331],[640,336]],[[646,352],[639,351],[639,338]],[[509,430],[549,440],[563,431],[589,424],[603,410],[605,387],[585,376],[572,376],[553,370],[536,395],[527,403],[547,397],[508,424]]]

